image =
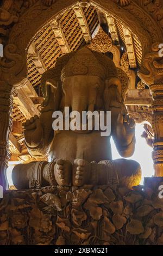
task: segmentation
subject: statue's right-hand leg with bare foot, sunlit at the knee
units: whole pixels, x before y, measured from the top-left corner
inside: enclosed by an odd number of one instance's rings
[[[109,185],[121,184],[133,187],[140,184],[141,167],[134,160],[104,160],[88,163],[77,159],[73,165],[73,185]]]

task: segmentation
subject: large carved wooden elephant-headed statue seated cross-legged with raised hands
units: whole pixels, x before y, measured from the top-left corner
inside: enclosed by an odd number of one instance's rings
[[[133,160],[112,160],[110,137],[122,157],[135,149],[135,122],[127,114],[124,99],[128,77],[102,53],[83,47],[57,60],[53,69],[42,75],[45,97],[40,117],[24,125],[29,153],[48,162],[17,164],[12,180],[18,189],[47,185],[83,186],[119,183],[139,185],[141,168]],[[111,135],[101,131],[72,131],[52,128],[54,111],[111,111]]]

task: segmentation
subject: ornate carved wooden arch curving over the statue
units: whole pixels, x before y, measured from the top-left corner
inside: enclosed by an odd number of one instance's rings
[[[45,4],[42,3],[42,0],[35,2],[32,7],[20,16],[18,22],[12,27],[9,34],[8,45],[5,47],[5,57],[12,60],[13,56],[17,68],[16,71],[14,68],[9,69],[7,74],[8,79],[4,77],[3,80],[7,80],[10,83],[11,74],[9,75],[9,73],[12,73],[11,85],[14,86],[17,86],[17,83],[26,78],[26,50],[34,35],[49,21],[54,19],[54,17],[59,16],[67,9],[71,9],[74,5],[83,1],[58,0],[50,7],[46,7]],[[128,1],[126,6],[123,6],[123,2],[126,1],[87,0],[87,2],[95,5],[98,9],[104,10],[128,27],[141,42],[142,57],[151,50],[151,46],[154,42],[161,42],[161,40],[163,40],[158,23],[145,9],[136,4],[136,1]],[[17,56],[15,59],[16,53],[19,54],[20,57]],[[20,71],[18,72],[19,64]]]

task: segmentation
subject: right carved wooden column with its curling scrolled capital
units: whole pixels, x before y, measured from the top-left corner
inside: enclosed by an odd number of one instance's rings
[[[139,76],[149,86],[152,94],[153,162],[155,176],[163,176],[163,57],[159,43],[152,45],[152,52],[142,61]]]

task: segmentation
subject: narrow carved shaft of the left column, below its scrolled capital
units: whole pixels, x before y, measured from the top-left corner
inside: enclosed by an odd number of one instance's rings
[[[6,170],[9,160],[9,133],[11,131],[11,86],[0,81],[0,185],[3,190],[8,189]]]

